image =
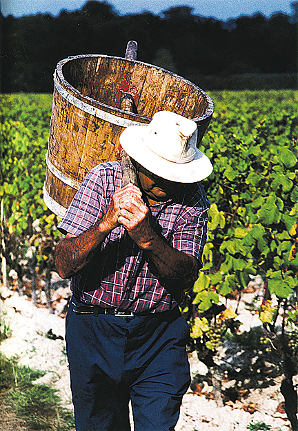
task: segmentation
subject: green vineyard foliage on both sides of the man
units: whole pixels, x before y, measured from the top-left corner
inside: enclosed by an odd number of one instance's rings
[[[298,92],[210,92],[215,114],[201,143],[214,164],[203,269],[184,312],[190,319],[244,290],[261,274],[270,294],[297,290]],[[59,239],[57,217],[43,203],[51,94],[1,95],[1,188],[11,261],[43,239]],[[39,219],[40,233],[32,228]],[[194,312],[195,310],[195,312]]]

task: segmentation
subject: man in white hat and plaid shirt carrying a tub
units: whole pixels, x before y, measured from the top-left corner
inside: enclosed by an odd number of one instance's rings
[[[59,224],[61,277],[72,277],[66,341],[77,431],[174,430],[190,383],[178,304],[201,268],[212,172],[194,121],[157,112],[120,137],[119,161],[92,169]]]

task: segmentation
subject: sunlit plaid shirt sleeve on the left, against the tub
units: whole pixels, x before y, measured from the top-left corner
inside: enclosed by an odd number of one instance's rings
[[[101,170],[98,167],[88,172],[72,203],[61,219],[58,229],[63,234],[78,236],[88,230],[106,212]]]

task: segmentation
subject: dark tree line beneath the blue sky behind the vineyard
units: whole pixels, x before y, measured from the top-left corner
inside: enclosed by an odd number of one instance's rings
[[[56,64],[77,54],[123,57],[139,44],[138,59],[183,77],[297,72],[297,6],[293,14],[257,13],[227,22],[177,6],[155,15],[119,15],[106,1],[88,1],[58,17],[1,19],[1,91],[52,92]]]

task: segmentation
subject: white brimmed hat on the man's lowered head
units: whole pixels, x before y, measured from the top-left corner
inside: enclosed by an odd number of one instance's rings
[[[175,112],[153,115],[148,126],[130,126],[120,135],[128,155],[155,175],[179,183],[195,183],[213,168],[197,144],[197,124]]]

